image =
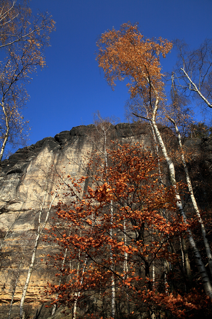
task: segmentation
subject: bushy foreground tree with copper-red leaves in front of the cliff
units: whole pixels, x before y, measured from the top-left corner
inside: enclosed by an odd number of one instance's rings
[[[77,296],[78,314],[73,312],[74,318],[110,317],[113,303],[106,300],[113,298],[119,305],[117,317],[147,312],[152,318],[155,313],[185,318],[209,306],[209,296],[201,300],[198,290],[183,292],[186,278],[179,236],[184,236],[191,225],[177,211],[175,192],[179,185],[158,183],[160,160],[143,145],[119,145],[117,150],[107,150],[107,167],[97,154],[90,160],[89,167],[98,174],[86,192],[85,177],[76,180],[69,176],[64,193],[66,202],[70,197],[69,204],[59,202],[58,218],[45,236],[46,241],[54,241],[61,248],[53,257],[63,283],[50,284],[46,290],[46,294],[56,295],[53,305],[75,311]],[[175,267],[174,278],[167,273],[166,286],[161,282],[166,273],[161,263],[164,258]],[[86,314],[84,302],[91,298],[98,300],[99,306],[90,307]]]

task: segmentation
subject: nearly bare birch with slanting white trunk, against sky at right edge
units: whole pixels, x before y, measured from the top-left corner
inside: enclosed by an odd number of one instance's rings
[[[193,50],[178,39],[174,45],[178,61],[172,79],[178,93],[191,97],[202,108],[212,108],[212,41],[206,39]]]

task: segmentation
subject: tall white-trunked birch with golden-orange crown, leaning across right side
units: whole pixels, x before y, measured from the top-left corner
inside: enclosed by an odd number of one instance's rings
[[[131,98],[137,97],[140,99],[139,105],[132,106],[131,114],[152,123],[161,152],[167,163],[170,183],[175,187],[174,163],[168,154],[157,125],[158,113],[163,110],[166,102],[160,56],[166,56],[172,48],[172,43],[162,38],[158,40],[144,39],[138,30],[138,26],[128,23],[123,24],[118,31],[112,29],[102,34],[97,46],[99,48],[97,54],[99,67],[104,70],[108,84],[114,88],[115,80],[129,79],[127,87]],[[175,199],[179,215],[183,217],[186,223],[187,217],[177,189]],[[186,234],[189,246],[195,256],[195,263],[201,274],[205,292],[212,297],[211,282],[191,229],[188,229]],[[182,247],[186,256],[185,244]],[[187,275],[191,282],[188,258],[185,259],[185,262],[187,262]]]

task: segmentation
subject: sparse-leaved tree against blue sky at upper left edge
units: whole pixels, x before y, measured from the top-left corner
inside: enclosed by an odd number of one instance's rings
[[[51,16],[40,12],[33,17],[27,0],[0,1],[0,161],[6,144],[12,149],[27,134],[28,121],[21,114],[28,99],[24,83],[37,66],[44,68],[43,50],[52,30]]]

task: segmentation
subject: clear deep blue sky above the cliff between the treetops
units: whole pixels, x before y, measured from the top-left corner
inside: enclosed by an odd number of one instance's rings
[[[28,144],[90,124],[97,110],[102,117],[124,121],[127,88],[117,83],[113,92],[95,61],[96,40],[107,29],[138,21],[145,37],[184,39],[191,48],[212,38],[211,0],[32,0],[30,6],[34,15],[38,8],[51,12],[56,32],[45,52],[48,68],[33,74],[27,85]],[[175,60],[174,51],[162,59],[163,71],[171,70]]]

